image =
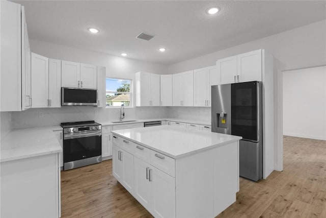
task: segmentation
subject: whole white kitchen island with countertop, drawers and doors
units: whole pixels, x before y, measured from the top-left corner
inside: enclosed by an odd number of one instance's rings
[[[113,175],[155,217],[214,217],[236,200],[241,137],[155,126],[113,131]]]

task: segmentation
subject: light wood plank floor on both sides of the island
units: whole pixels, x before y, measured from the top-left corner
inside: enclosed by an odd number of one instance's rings
[[[112,161],[61,173],[62,217],[152,217],[112,176]],[[284,136],[284,171],[240,178],[222,217],[326,217],[326,141]]]

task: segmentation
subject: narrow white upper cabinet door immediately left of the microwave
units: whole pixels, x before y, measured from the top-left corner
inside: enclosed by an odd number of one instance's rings
[[[49,59],[49,107],[61,107],[61,60]]]

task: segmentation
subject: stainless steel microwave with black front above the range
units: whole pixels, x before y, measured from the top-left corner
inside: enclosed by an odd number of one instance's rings
[[[97,89],[61,88],[62,106],[97,106]]]

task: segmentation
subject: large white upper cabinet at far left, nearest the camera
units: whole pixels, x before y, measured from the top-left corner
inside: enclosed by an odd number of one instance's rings
[[[21,111],[30,108],[30,47],[24,8],[0,1],[1,20],[1,109]]]

